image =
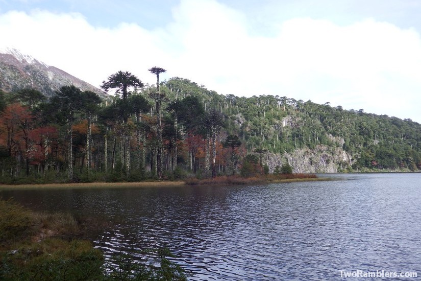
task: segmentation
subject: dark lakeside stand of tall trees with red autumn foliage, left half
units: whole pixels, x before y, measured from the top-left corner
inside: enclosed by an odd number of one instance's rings
[[[174,95],[159,81],[165,69],[149,71],[157,77],[149,87],[129,72],[109,76],[101,85],[106,92],[115,90],[109,100],[73,85],[48,99],[35,89],[2,93],[3,181],[141,180],[227,172],[241,142],[231,136],[227,145],[232,149],[225,149],[223,114],[205,109],[198,96]]]

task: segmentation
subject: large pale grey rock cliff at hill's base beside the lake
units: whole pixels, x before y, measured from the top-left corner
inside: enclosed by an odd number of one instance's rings
[[[337,173],[353,164],[352,156],[340,147],[317,146],[315,149],[296,149],[292,153],[268,153],[269,172],[288,161],[294,173]]]

